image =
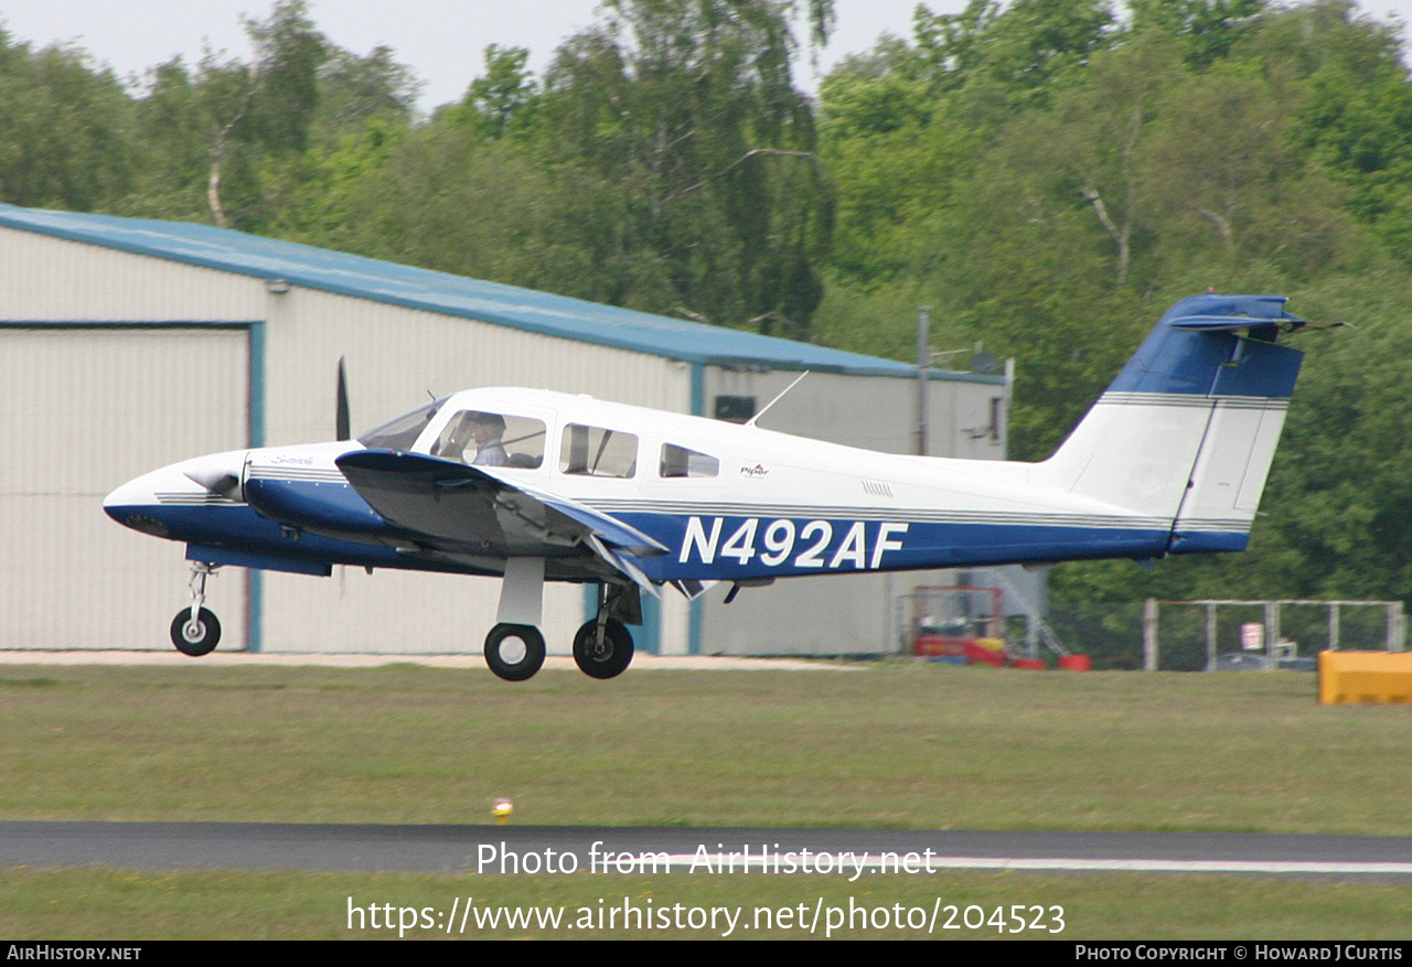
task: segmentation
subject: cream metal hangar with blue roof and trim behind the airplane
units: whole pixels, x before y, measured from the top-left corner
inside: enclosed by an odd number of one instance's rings
[[[354,433],[474,385],[583,392],[675,412],[764,407],[762,426],[915,446],[911,366],[201,224],[0,205],[0,647],[169,648],[189,604],[184,548],[102,512],[117,484],[181,459],[333,438],[339,357]],[[1004,377],[931,373],[939,456],[1005,453]],[[894,599],[938,575],[668,590],[634,630],[658,654],[897,648]],[[496,579],[336,567],[222,569],[222,648],[477,652]],[[551,586],[569,649],[586,591]]]

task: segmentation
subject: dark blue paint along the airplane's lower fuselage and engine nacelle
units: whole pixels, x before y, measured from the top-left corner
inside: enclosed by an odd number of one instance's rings
[[[472,565],[432,563],[397,551],[405,542],[347,484],[257,479],[251,505],[161,504],[112,507],[160,519],[175,541],[225,548],[225,562],[312,573],[316,563],[486,573]],[[278,515],[280,521],[261,515]],[[861,517],[861,511],[860,511]],[[827,517],[746,517],[620,511],[614,518],[669,548],[634,556],[652,580],[744,580],[870,570],[923,570],[1094,558],[1159,558],[1165,553],[1240,551],[1248,532],[1172,531],[1152,521],[892,521]],[[1169,546],[1171,545],[1171,546]],[[583,577],[594,570],[585,556]],[[239,559],[237,559],[239,558]],[[572,559],[563,560],[570,563]],[[572,565],[570,565],[572,566]],[[572,570],[570,570],[572,573]]]

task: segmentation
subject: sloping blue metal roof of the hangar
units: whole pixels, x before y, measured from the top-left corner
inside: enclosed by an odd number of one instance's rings
[[[0,226],[240,275],[282,278],[323,292],[477,319],[686,363],[858,376],[916,373],[912,366],[874,356],[618,309],[515,285],[483,282],[465,275],[398,265],[206,224],[0,205]],[[994,377],[933,371],[933,378],[936,377],[994,381]]]

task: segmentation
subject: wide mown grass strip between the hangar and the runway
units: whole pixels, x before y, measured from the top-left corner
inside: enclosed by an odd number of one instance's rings
[[[6,678],[0,819],[1412,831],[1412,709],[1298,673]]]

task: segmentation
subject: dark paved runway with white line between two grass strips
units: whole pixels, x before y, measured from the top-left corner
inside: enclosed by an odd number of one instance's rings
[[[604,860],[611,854],[611,858]],[[617,826],[0,823],[0,867],[688,872],[942,870],[1412,877],[1412,837]],[[572,867],[570,867],[572,864]],[[602,864],[613,864],[611,868]]]

